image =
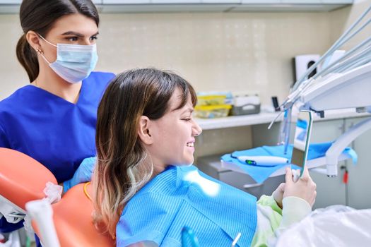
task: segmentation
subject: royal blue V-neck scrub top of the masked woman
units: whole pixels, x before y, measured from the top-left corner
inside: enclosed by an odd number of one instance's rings
[[[98,104],[112,78],[112,73],[90,73],[76,104],[33,85],[16,90],[0,102],[0,147],[33,157],[58,183],[71,179],[84,158],[95,156]],[[1,232],[22,226],[0,220]]]

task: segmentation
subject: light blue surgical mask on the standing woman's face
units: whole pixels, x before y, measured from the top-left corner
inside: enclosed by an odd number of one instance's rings
[[[45,40],[42,37],[42,40]],[[95,68],[98,61],[96,44],[48,44],[57,47],[57,60],[50,63],[44,54],[40,54],[49,64],[50,68],[69,83],[78,83],[87,78]]]

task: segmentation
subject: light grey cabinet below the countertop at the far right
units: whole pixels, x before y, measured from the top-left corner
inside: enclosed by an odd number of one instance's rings
[[[358,117],[339,119],[336,121],[314,122],[312,142],[335,140],[341,133],[348,131],[356,123],[367,119]],[[350,145],[358,155],[358,163],[353,164],[351,159],[338,164],[338,176],[328,178],[324,174],[310,172],[312,179],[317,183],[317,199],[315,208],[341,204],[356,209],[371,208],[371,130],[358,136]],[[348,184],[343,183],[343,175],[348,169]]]

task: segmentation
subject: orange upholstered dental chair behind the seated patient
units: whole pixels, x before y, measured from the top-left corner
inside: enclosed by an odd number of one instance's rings
[[[0,148],[0,196],[17,210],[26,213],[26,203],[45,198],[43,190],[48,181],[57,184],[54,175],[35,159],[16,150]],[[95,229],[93,203],[88,198],[91,194],[90,184],[81,183],[52,204],[52,219],[60,246],[114,246],[114,239]],[[43,243],[39,227],[33,221],[33,229]]]

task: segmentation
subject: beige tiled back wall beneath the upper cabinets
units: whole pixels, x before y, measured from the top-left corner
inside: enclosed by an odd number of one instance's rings
[[[283,99],[290,59],[330,44],[329,13],[102,14],[97,69],[155,66],[182,74],[196,90],[259,92]],[[28,83],[15,56],[16,15],[1,15],[0,99]]]

